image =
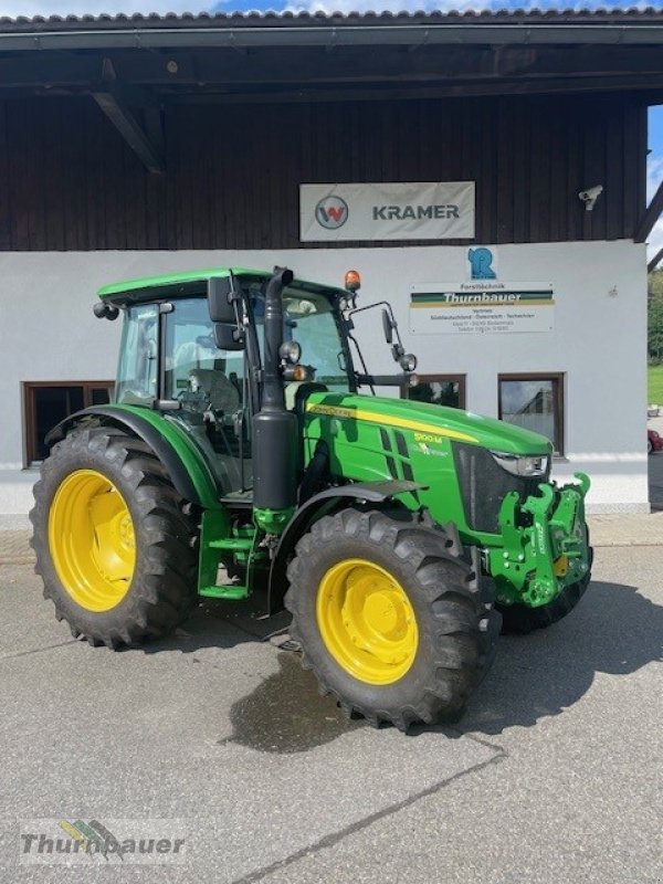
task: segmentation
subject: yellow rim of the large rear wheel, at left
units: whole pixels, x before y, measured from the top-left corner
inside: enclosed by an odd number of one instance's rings
[[[96,470],[76,470],[60,485],[49,515],[57,577],[87,611],[109,611],[129,590],[136,566],[134,520],[125,498]]]

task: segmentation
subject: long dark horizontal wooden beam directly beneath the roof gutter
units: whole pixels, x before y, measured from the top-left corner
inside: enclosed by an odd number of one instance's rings
[[[0,53],[1,54],[1,53]],[[39,57],[35,57],[39,56]],[[663,74],[660,46],[402,46],[264,48],[194,52],[113,50],[109,54],[59,52],[6,53],[0,57],[0,88],[91,88],[103,66],[118,84],[196,87],[198,83],[344,83],[369,81],[520,80],[536,77],[642,77]]]

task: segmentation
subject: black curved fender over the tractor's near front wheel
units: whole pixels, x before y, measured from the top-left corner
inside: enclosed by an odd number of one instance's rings
[[[276,611],[283,608],[283,598],[287,589],[285,572],[288,556],[295,548],[299,537],[308,530],[314,522],[317,522],[323,516],[337,509],[339,504],[349,503],[349,501],[383,504],[398,494],[422,491],[427,487],[427,485],[422,485],[419,482],[407,482],[404,480],[354,482],[348,485],[326,488],[306,501],[306,503],[297,509],[281,535],[276,552],[272,559],[267,597],[270,614],[276,613]]]

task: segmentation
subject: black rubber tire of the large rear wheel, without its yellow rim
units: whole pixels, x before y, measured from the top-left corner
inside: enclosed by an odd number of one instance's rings
[[[101,612],[82,607],[59,577],[49,541],[57,490],[72,473],[91,470],[124,497],[135,534],[135,566],[124,598]],[[118,649],[161,636],[181,623],[196,601],[198,529],[191,507],[176,492],[149,446],[122,430],[74,431],[52,450],[34,486],[32,546],[44,598],[75,638]]]

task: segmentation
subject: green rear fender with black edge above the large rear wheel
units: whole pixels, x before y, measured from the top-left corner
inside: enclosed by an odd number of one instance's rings
[[[56,424],[46,434],[46,444],[54,445],[74,427],[90,420],[129,430],[146,442],[161,461],[178,494],[207,509],[222,508],[217,483],[200,452],[183,431],[164,420],[156,411],[130,406],[92,406]]]

